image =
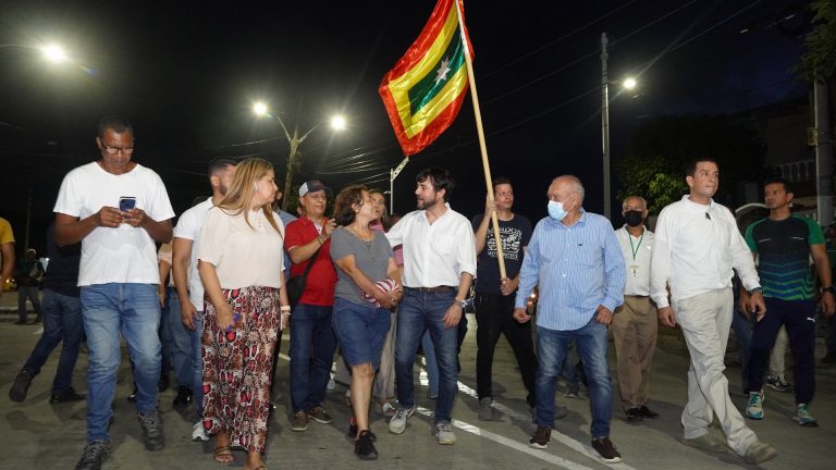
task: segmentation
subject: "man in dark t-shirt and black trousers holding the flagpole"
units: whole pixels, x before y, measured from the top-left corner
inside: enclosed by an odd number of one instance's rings
[[[492,366],[493,351],[500,334],[508,339],[528,389],[526,400],[534,407],[534,372],[537,359],[531,341],[531,322],[519,323],[513,318],[514,299],[519,284],[519,268],[528,240],[531,222],[512,212],[514,189],[506,178],[493,182],[495,201],[488,201],[484,214],[474,218],[476,252],[479,256],[476,271],[476,392],[479,395],[479,419],[493,419]],[[507,277],[500,276],[496,257],[496,239],[491,224],[491,212],[496,211],[500,223],[502,255]]]

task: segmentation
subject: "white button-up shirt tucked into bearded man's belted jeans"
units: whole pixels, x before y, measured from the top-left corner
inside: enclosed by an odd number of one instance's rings
[[[447,210],[432,224],[426,211],[404,215],[386,233],[389,243],[404,245],[406,287],[458,286],[463,272],[476,275],[476,242],[470,222]]]

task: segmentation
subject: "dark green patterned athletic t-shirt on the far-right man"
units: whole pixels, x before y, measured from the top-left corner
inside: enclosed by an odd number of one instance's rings
[[[749,225],[745,238],[749,249],[758,253],[758,273],[765,297],[815,297],[810,246],[823,244],[824,235],[814,220],[797,215],[779,221],[762,219]]]

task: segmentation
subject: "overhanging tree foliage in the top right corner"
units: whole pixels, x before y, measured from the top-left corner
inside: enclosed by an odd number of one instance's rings
[[[836,72],[836,0],[812,2],[814,29],[804,38],[804,53],[792,67],[807,82],[825,82]]]

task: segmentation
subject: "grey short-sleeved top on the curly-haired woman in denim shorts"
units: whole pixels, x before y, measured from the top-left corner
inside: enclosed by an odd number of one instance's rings
[[[394,257],[392,246],[382,232],[373,232],[374,238],[366,242],[357,238],[347,230],[340,227],[331,234],[331,258],[334,262],[347,257],[354,256],[354,262],[366,277],[371,282],[378,282],[386,279],[389,272],[389,259]],[[362,304],[360,288],[354,283],[354,280],[337,269],[335,297]]]

